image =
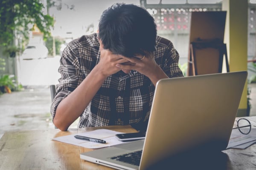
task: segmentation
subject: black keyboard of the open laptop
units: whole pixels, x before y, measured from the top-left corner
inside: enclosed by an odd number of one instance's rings
[[[126,153],[126,154],[119,155],[119,156],[114,156],[114,157],[111,157],[111,159],[115,159],[116,161],[121,161],[121,162],[125,162],[128,164],[133,164],[133,165],[139,166],[141,154],[142,154],[142,150],[139,150],[136,152],[131,152],[131,153]]]

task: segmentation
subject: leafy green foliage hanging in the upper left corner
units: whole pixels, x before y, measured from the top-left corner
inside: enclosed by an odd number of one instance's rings
[[[50,1],[52,0],[47,0]],[[0,46],[6,48],[6,51],[11,49],[17,35],[23,44],[29,38],[29,31],[34,24],[44,34],[45,39],[49,37],[54,20],[49,14],[44,14],[42,0],[0,1]]]

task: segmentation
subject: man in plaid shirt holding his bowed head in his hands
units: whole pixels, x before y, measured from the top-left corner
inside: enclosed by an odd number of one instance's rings
[[[99,34],[82,36],[64,49],[53,123],[67,130],[79,116],[79,128],[146,121],[157,81],[183,76],[178,60],[144,8],[114,4],[102,14]]]

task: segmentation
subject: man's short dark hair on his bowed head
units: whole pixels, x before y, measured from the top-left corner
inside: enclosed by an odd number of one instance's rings
[[[102,13],[99,38],[105,49],[132,57],[155,51],[157,26],[146,9],[116,3]]]

